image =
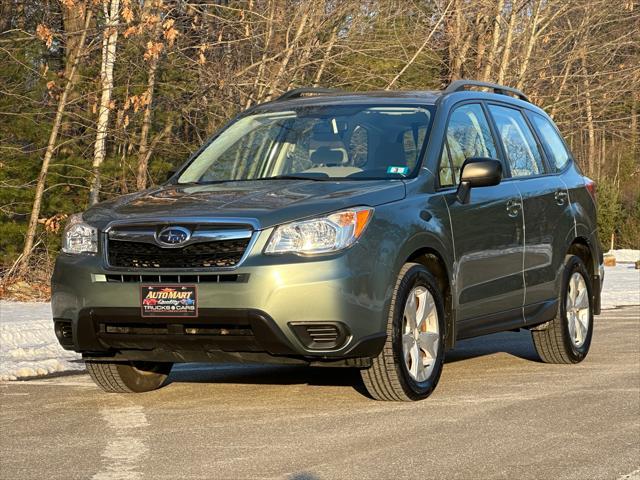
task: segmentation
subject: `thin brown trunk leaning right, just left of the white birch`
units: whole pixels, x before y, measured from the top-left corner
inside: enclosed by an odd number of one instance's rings
[[[31,252],[33,250],[33,244],[38,229],[38,218],[40,217],[42,196],[44,194],[44,188],[47,181],[49,164],[51,163],[51,159],[53,158],[53,154],[56,149],[56,142],[58,140],[60,124],[62,123],[62,117],[67,106],[67,98],[69,97],[69,93],[71,92],[71,89],[73,88],[73,85],[75,83],[76,71],[78,69],[78,64],[80,63],[80,56],[82,54],[82,49],[84,48],[84,43],[87,38],[87,31],[91,22],[91,14],[92,10],[90,8],[86,8],[84,28],[82,30],[82,33],[80,34],[80,41],[78,42],[77,50],[73,55],[71,61],[71,68],[69,68],[67,83],[64,87],[64,90],[62,91],[62,94],[60,95],[60,99],[58,100],[56,116],[51,128],[51,134],[49,135],[49,141],[47,142],[47,149],[45,150],[44,158],[42,159],[40,173],[38,174],[38,182],[36,183],[36,191],[33,199],[33,205],[31,207],[31,215],[29,216],[29,224],[27,226],[27,234],[24,242],[24,247],[22,249],[22,254],[18,257],[18,260],[16,260],[16,263],[11,268],[11,271],[18,276],[24,275],[29,266],[29,260],[31,258]]]

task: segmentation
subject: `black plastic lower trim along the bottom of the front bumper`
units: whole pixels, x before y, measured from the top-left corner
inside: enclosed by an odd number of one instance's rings
[[[147,318],[141,317],[140,309],[131,307],[90,307],[80,310],[73,327],[73,345],[66,346],[87,358],[111,358],[119,360],[149,361],[249,361],[270,363],[292,363],[298,360],[339,360],[344,358],[378,355],[384,346],[384,332],[370,335],[353,343],[344,352],[301,351],[294,347],[280,327],[265,312],[256,309],[201,308],[197,318]],[[323,322],[328,323],[328,322]],[[161,328],[148,330],[153,333],[112,333],[106,326]],[[187,328],[199,329],[203,334],[187,334]],[[240,335],[210,334],[228,326],[228,330],[242,331]],[[250,328],[251,334],[245,330]],[[346,328],[346,327],[345,327]],[[155,333],[161,332],[161,333]],[[165,333],[166,332],[166,333]],[[346,334],[349,335],[348,330]],[[282,361],[278,361],[282,358]],[[295,361],[293,363],[296,363]]]

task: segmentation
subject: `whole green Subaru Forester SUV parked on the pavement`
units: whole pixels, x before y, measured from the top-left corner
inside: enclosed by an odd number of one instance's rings
[[[109,392],[175,362],[275,362],[420,400],[456,341],[520,328],[577,363],[600,313],[594,195],[518,90],[293,90],[164,185],[71,218],[55,332]]]

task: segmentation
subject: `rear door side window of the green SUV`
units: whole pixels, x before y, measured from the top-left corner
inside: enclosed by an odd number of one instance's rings
[[[533,132],[519,110],[489,105],[507,154],[511,176],[528,177],[544,173],[542,156]]]

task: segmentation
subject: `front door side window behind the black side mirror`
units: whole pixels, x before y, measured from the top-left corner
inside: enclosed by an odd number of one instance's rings
[[[457,184],[462,164],[471,157],[497,157],[487,118],[477,103],[462,105],[449,117],[438,172],[440,185]]]

